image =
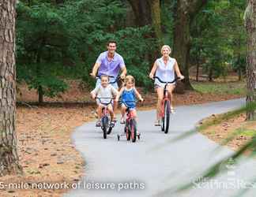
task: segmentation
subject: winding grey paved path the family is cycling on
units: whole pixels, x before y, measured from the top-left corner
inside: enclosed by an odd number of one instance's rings
[[[224,113],[243,104],[242,99],[235,99],[178,106],[175,115],[171,116],[171,129],[167,135],[152,125],[155,111],[140,111],[138,129],[141,140],[137,143],[127,142],[125,138],[117,141],[116,133],[123,131],[119,124],[107,139],[103,139],[100,128],[95,128],[94,122],[82,125],[73,133],[73,143],[85,157],[85,182],[81,183],[80,189],[72,190],[64,196],[232,196],[234,191],[244,187],[243,181],[256,177],[254,160],[243,158],[243,162],[235,163],[214,180],[197,185],[190,191],[172,194],[168,188],[194,180],[203,169],[232,154],[232,151],[225,147],[216,151],[219,146],[198,132],[176,142],[171,139],[194,129],[195,124],[204,117]],[[92,187],[93,183],[95,187],[101,184],[100,187],[109,189],[92,190],[89,184]],[[246,196],[254,197],[256,192],[250,191]]]

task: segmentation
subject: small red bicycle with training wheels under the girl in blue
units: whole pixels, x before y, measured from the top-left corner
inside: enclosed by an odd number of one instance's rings
[[[136,101],[126,101],[126,102],[136,102]],[[124,103],[124,102],[121,102]],[[124,103],[125,104],[125,103]],[[124,127],[124,132],[126,133],[126,139],[127,141],[131,141],[133,143],[136,142],[136,139],[141,139],[141,134],[137,133],[137,121],[135,120],[133,110],[130,110],[128,106],[126,106],[126,122],[125,122],[125,127]],[[122,135],[117,135],[118,140],[120,140],[120,136]]]

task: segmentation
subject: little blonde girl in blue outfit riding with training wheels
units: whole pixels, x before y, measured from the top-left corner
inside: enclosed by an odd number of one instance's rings
[[[126,114],[126,110],[127,108],[130,108],[131,112],[133,113],[134,117],[137,117],[137,113],[136,113],[136,97],[143,101],[140,93],[137,91],[136,87],[135,87],[135,80],[134,80],[134,76],[126,76],[125,80],[124,80],[124,87],[121,88],[121,90],[119,91],[119,93],[117,94],[116,98],[115,98],[115,102],[119,102],[119,98],[121,97],[121,124],[125,123],[125,114]]]

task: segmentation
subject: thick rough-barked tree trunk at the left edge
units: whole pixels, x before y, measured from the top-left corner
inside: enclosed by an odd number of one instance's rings
[[[0,3],[0,177],[22,172],[15,131],[15,4]]]

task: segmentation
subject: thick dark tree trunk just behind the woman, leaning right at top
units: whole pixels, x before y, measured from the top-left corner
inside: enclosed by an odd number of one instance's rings
[[[177,1],[177,13],[175,18],[173,56],[177,59],[183,75],[185,76],[185,88],[193,89],[190,84],[190,24],[196,14],[205,6],[207,0]]]

